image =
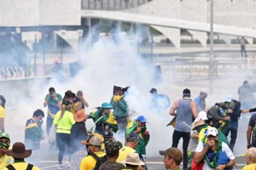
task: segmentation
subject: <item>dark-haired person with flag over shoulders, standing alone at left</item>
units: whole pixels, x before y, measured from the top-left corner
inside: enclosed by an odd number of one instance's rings
[[[44,139],[44,132],[42,131],[43,117],[44,112],[37,109],[34,111],[33,117],[26,122],[25,146],[33,151],[28,161],[34,165],[38,165],[40,141]]]

